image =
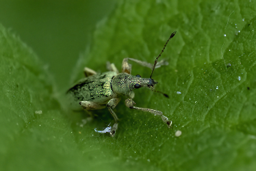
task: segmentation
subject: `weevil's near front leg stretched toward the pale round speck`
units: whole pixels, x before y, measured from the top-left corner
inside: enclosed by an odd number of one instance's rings
[[[157,111],[157,110],[154,110],[154,109],[147,109],[147,108],[142,108],[142,107],[135,107],[133,105],[135,105],[135,102],[131,99],[131,98],[127,98],[125,100],[125,105],[131,109],[137,109],[137,110],[142,110],[142,111],[148,111],[150,112],[151,114],[155,114],[155,115],[159,115],[161,116],[162,120],[164,123],[167,124],[167,127],[170,128],[171,124],[172,124],[172,121],[171,120],[168,120],[168,118],[166,116],[163,115],[162,111]]]

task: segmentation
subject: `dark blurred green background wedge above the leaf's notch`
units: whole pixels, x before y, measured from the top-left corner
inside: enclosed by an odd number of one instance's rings
[[[0,1],[0,23],[33,49],[62,90],[95,26],[115,4],[116,0]]]

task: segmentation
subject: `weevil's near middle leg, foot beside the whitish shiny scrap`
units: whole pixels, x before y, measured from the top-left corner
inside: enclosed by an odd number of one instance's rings
[[[116,129],[118,127],[118,118],[116,116],[116,113],[113,111],[113,109],[116,107],[116,105],[119,103],[119,101],[121,100],[121,98],[112,98],[108,103],[107,103],[107,108],[110,110],[110,113],[112,114],[112,116],[114,117],[115,123],[112,127],[112,129],[110,130],[110,135],[112,137],[114,137],[114,135],[116,134]]]

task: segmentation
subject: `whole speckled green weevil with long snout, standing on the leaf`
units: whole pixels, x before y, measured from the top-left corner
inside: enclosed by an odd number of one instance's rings
[[[81,79],[67,92],[69,98],[71,98],[71,107],[73,109],[82,108],[85,110],[103,109],[107,107],[114,117],[115,123],[113,124],[113,127],[108,126],[101,133],[109,132],[110,135],[114,137],[116,130],[118,129],[118,117],[113,109],[119,103],[121,96],[127,96],[128,98],[125,100],[125,105],[127,107],[141,111],[148,111],[151,114],[155,114],[155,116],[161,116],[163,122],[170,128],[172,121],[164,116],[162,111],[134,106],[136,103],[133,101],[135,95],[133,90],[143,87],[151,90],[155,89],[157,81],[151,78],[153,71],[155,68],[159,68],[164,65],[164,60],[158,62],[158,58],[162,55],[169,40],[175,36],[175,34],[176,31],[170,35],[166,44],[164,44],[164,48],[161,53],[155,58],[154,64],[142,62],[133,58],[125,58],[122,63],[122,73],[119,73],[116,66],[110,63],[107,63],[107,68],[110,71],[102,74],[97,74],[90,68],[84,68],[86,78]],[[152,71],[150,77],[142,78],[140,75],[131,75],[131,64],[128,63],[128,60],[151,68]]]

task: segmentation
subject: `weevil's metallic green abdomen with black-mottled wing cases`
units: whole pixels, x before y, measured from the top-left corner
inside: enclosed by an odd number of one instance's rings
[[[92,75],[81,79],[75,86],[68,90],[68,103],[72,109],[82,109],[81,101],[92,101],[99,105],[106,105],[110,99],[117,95],[112,90],[112,78],[115,72],[106,72],[101,75]]]

